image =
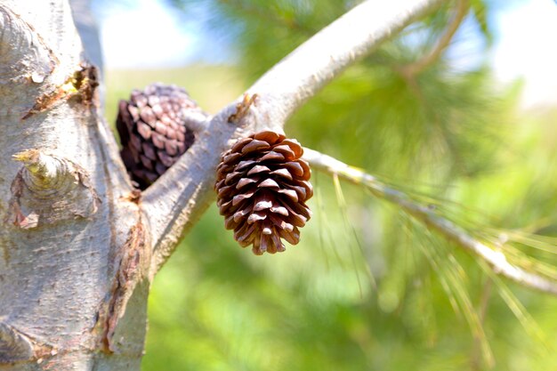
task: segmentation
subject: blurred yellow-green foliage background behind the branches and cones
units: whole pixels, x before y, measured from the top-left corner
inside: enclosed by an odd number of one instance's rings
[[[186,19],[210,9],[205,27],[228,35],[238,57],[108,70],[107,117],[157,81],[215,113],[355,3],[176,0]],[[557,278],[557,110],[520,109],[521,81],[497,83],[484,60],[496,5],[470,4],[464,24],[474,31],[426,69],[401,72],[435,47],[454,6],[347,69],[286,131]],[[480,46],[456,68],[450,50],[467,37]],[[155,279],[143,370],[557,369],[553,297],[496,278],[359,187],[315,172],[312,183],[314,216],[283,254],[240,248],[210,207]]]

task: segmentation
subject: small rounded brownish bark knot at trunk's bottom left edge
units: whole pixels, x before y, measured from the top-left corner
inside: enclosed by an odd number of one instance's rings
[[[0,365],[33,358],[33,343],[17,329],[0,322]]]

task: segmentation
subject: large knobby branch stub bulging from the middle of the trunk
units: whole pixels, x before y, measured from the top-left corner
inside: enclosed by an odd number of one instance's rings
[[[28,230],[97,212],[101,198],[83,167],[36,149],[20,152],[14,159],[25,165],[12,181],[5,222]]]

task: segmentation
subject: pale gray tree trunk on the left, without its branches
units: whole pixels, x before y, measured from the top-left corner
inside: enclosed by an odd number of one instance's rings
[[[148,233],[98,69],[66,1],[0,12],[0,368],[137,370]]]

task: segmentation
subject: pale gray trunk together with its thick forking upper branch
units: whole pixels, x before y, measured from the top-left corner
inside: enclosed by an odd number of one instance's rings
[[[248,99],[208,117],[141,195],[102,119],[93,23],[77,21],[85,52],[67,0],[1,0],[0,369],[139,370],[150,281],[214,198],[222,150],[247,132],[280,130],[346,66],[441,2],[359,5]]]

